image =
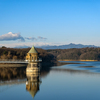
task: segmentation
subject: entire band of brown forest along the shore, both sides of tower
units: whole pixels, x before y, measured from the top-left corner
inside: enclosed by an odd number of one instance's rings
[[[0,48],[0,60],[24,60],[30,48]],[[49,49],[37,48],[43,62],[54,62],[57,60],[100,60],[100,48],[72,48],[72,49]]]

